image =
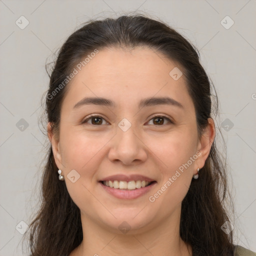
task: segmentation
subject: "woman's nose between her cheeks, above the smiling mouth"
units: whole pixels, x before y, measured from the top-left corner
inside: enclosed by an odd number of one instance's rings
[[[132,165],[146,160],[147,147],[143,139],[134,132],[132,125],[126,131],[117,127],[117,134],[111,140],[108,152],[109,160],[113,162],[120,161],[125,165]]]

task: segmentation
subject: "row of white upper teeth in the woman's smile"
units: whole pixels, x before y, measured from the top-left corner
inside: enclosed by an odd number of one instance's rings
[[[145,180],[130,180],[130,181],[123,181],[123,180],[104,180],[103,184],[105,186],[113,187],[113,188],[119,188],[119,189],[128,189],[128,190],[134,190],[136,188],[145,187],[150,182]]]

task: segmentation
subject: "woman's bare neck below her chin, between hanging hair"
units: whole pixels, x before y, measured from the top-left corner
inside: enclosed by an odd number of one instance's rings
[[[154,228],[142,232],[141,230],[128,231],[126,234],[109,231],[81,215],[83,240],[70,256],[191,256],[191,246],[179,236],[179,221],[176,220],[180,212],[176,213],[177,216],[173,214],[169,219],[159,222]]]

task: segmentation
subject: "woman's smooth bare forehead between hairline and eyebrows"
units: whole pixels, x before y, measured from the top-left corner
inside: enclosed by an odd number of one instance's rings
[[[161,53],[149,47],[110,47],[93,55],[69,83],[69,101],[84,96],[106,97],[118,105],[135,104],[145,97],[170,96],[191,106],[184,75],[176,80],[170,75],[173,68],[182,70],[181,66]]]

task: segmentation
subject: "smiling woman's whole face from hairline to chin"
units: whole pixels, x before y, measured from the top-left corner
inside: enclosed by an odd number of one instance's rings
[[[179,218],[207,152],[184,75],[169,75],[174,67],[182,70],[146,47],[106,48],[68,84],[59,137],[50,139],[82,218],[118,233]]]

